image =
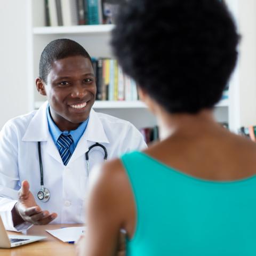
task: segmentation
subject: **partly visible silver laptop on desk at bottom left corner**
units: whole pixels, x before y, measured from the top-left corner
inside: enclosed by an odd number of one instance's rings
[[[44,238],[46,238],[46,236],[7,235],[4,223],[0,216],[0,248],[12,248],[36,242]]]

